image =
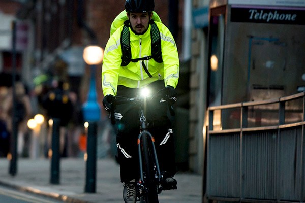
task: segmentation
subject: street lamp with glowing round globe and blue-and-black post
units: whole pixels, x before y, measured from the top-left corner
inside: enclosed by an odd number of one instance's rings
[[[84,120],[88,122],[87,161],[85,192],[96,192],[96,151],[97,151],[97,122],[100,120],[100,106],[96,92],[96,65],[103,60],[104,51],[99,46],[87,46],[83,52],[85,62],[90,65],[91,78],[88,98],[83,105]]]

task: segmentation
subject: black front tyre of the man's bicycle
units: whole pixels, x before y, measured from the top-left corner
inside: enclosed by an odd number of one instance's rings
[[[147,189],[143,198],[145,201],[142,202],[159,203],[157,186],[154,182],[154,157],[147,137],[147,134],[144,134],[142,138],[142,158],[144,159],[145,187]]]

